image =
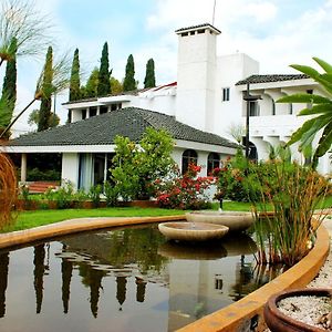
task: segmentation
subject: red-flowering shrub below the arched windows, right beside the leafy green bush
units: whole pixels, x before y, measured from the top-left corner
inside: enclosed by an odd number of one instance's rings
[[[201,167],[189,164],[185,175],[174,167],[168,178],[158,178],[154,183],[157,203],[163,208],[201,209],[209,207],[205,189],[214,184],[215,178],[200,177]]]

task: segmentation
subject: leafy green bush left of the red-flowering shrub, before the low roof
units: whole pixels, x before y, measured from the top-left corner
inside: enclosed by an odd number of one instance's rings
[[[153,195],[154,180],[166,176],[174,165],[172,136],[164,129],[148,127],[139,145],[122,136],[114,142],[115,167],[111,172],[120,195],[124,200],[148,199]]]

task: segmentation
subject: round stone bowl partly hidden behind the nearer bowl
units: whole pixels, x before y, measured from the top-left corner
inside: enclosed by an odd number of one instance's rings
[[[194,211],[187,212],[186,219],[189,222],[224,225],[229,228],[229,231],[242,231],[253,224],[251,212],[237,211]]]

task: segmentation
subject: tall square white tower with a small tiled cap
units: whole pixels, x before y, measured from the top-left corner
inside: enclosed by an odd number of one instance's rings
[[[203,131],[214,121],[216,37],[206,23],[178,29],[176,120]]]

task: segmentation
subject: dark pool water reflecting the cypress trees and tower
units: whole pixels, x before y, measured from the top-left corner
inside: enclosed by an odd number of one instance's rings
[[[174,331],[274,278],[256,250],[247,235],[166,242],[149,225],[0,251],[0,331]]]

